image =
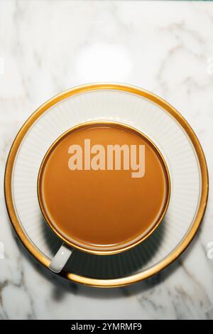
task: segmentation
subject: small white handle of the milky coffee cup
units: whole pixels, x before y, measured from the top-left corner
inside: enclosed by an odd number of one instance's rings
[[[58,249],[58,252],[55,254],[55,257],[53,257],[50,262],[49,269],[57,274],[60,273],[70,258],[72,251],[72,248],[68,247],[66,244],[62,244],[60,249]]]

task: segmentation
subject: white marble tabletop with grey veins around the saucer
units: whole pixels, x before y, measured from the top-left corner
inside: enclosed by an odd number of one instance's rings
[[[213,178],[213,2],[0,1],[0,318],[213,318],[213,190],[202,227],[153,278],[120,289],[61,279],[11,229],[4,168],[23,122],[69,87],[111,81],[168,100],[190,122]]]

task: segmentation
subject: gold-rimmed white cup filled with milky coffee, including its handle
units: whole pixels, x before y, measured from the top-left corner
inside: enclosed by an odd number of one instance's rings
[[[119,122],[79,124],[50,146],[38,173],[38,201],[63,244],[50,263],[60,272],[73,249],[116,254],[148,238],[170,200],[162,153]]]

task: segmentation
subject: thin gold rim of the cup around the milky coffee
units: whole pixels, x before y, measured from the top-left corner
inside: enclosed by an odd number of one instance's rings
[[[45,205],[43,203],[43,195],[42,195],[43,171],[44,171],[45,165],[48,161],[48,158],[50,157],[50,154],[53,152],[53,150],[58,145],[58,143],[60,141],[62,141],[62,139],[64,139],[65,136],[70,134],[70,132],[73,132],[75,130],[82,129],[82,128],[85,128],[85,127],[87,128],[89,126],[102,126],[102,125],[119,127],[121,129],[129,130],[129,131],[137,134],[138,136],[141,136],[146,142],[148,142],[148,144],[151,145],[151,147],[153,148],[155,153],[158,155],[158,158],[160,159],[160,164],[161,164],[161,166],[163,166],[164,175],[165,175],[165,200],[164,200],[164,203],[163,203],[163,207],[160,208],[157,220],[154,223],[152,223],[151,227],[141,237],[136,239],[134,242],[126,244],[126,245],[124,245],[124,247],[119,247],[118,249],[111,249],[111,250],[109,250],[109,249],[102,249],[102,250],[101,249],[89,249],[89,248],[84,247],[80,244],[77,244],[74,241],[72,242],[68,237],[66,237],[65,235],[60,233],[59,229],[57,227],[55,227],[55,224],[53,223],[53,221],[50,220],[48,212],[45,209]],[[40,210],[43,213],[43,216],[45,217],[45,221],[48,223],[51,230],[53,230],[55,235],[57,235],[60,239],[62,239],[62,241],[65,242],[68,246],[80,249],[83,252],[87,252],[87,253],[90,253],[90,254],[96,254],[96,255],[112,255],[112,254],[121,253],[121,252],[124,252],[128,249],[131,249],[131,248],[135,247],[137,244],[140,244],[141,242],[146,240],[157,229],[157,227],[160,225],[160,222],[162,222],[163,217],[165,216],[165,212],[168,209],[168,204],[169,204],[169,201],[170,201],[170,188],[171,188],[170,173],[169,173],[169,170],[168,170],[167,163],[165,162],[165,158],[163,157],[163,154],[158,149],[158,146],[156,146],[148,136],[143,134],[141,131],[138,131],[137,129],[133,128],[132,126],[129,126],[127,124],[123,124],[121,122],[112,122],[112,121],[103,121],[103,120],[101,120],[101,121],[90,121],[90,122],[84,122],[84,123],[81,123],[81,124],[77,124],[76,126],[72,126],[72,128],[68,129],[63,134],[61,134],[53,142],[53,144],[50,146],[48,151],[45,153],[43,161],[40,164],[40,168],[39,168],[39,171],[38,171],[38,181],[37,181],[38,203],[40,205]]]

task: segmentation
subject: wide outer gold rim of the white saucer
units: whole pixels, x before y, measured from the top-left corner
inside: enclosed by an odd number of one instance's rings
[[[143,279],[147,279],[148,277],[157,274],[160,270],[164,269],[166,266],[171,264],[175,259],[177,259],[180,254],[186,249],[186,247],[190,244],[193,237],[202,222],[202,217],[204,216],[204,211],[207,206],[207,198],[208,198],[208,189],[209,189],[209,180],[208,180],[208,171],[207,171],[207,163],[204,157],[204,152],[202,151],[202,147],[200,145],[200,141],[197,139],[195,132],[192,130],[190,124],[187,123],[184,117],[168,102],[164,99],[161,99],[157,95],[154,95],[147,90],[143,90],[139,87],[134,87],[131,85],[124,85],[124,84],[114,84],[114,83],[95,83],[95,84],[88,84],[82,85],[78,87],[74,87],[70,90],[66,90],[58,95],[55,95],[47,102],[42,104],[35,112],[27,119],[27,121],[23,124],[20,131],[18,132],[13,144],[11,146],[11,150],[9,152],[9,156],[6,162],[6,170],[5,170],[5,177],[4,177],[4,192],[5,192],[5,199],[6,199],[6,208],[9,212],[9,217],[11,219],[12,225],[16,230],[18,237],[23,242],[23,245],[28,249],[29,252],[37,259],[43,266],[48,268],[50,265],[50,259],[45,257],[38,249],[35,247],[31,240],[28,239],[26,233],[24,232],[23,228],[21,227],[20,222],[18,221],[18,217],[16,215],[16,210],[13,203],[13,195],[12,195],[12,176],[13,176],[13,164],[16,159],[16,154],[18,152],[18,148],[21,145],[21,142],[28,132],[28,129],[31,128],[33,123],[50,107],[58,102],[62,101],[62,99],[66,99],[67,97],[71,97],[73,95],[77,95],[83,92],[89,92],[92,90],[120,90],[124,92],[129,92],[141,97],[144,97],[151,102],[158,104],[158,106],[162,107],[168,114],[175,118],[175,120],[182,126],[182,129],[185,130],[187,136],[189,137],[195,152],[197,153],[197,158],[200,164],[200,173],[201,173],[201,191],[200,191],[200,205],[197,209],[197,214],[195,216],[194,222],[190,229],[188,230],[185,237],[182,239],[180,244],[168,254],[167,257],[162,259],[160,262],[155,264],[149,269],[146,269],[143,272],[133,274],[131,276],[119,278],[119,279],[92,279],[89,277],[84,277],[72,273],[68,273],[66,271],[62,271],[60,276],[63,276],[71,281],[75,281],[77,283],[86,284],[89,286],[99,286],[99,287],[116,287],[116,286],[126,286],[128,284],[136,283]]]

